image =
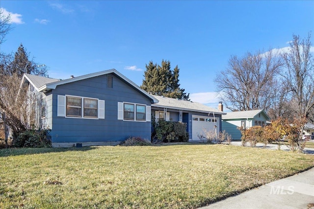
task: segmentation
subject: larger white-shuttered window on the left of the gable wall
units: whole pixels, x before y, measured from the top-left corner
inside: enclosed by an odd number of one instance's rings
[[[72,95],[58,95],[57,99],[59,117],[105,118],[105,100]]]

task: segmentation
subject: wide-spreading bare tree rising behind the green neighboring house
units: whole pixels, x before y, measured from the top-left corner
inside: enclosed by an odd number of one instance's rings
[[[280,57],[270,51],[244,57],[232,56],[229,67],[215,78],[217,91],[226,108],[232,111],[264,109],[267,111],[276,95],[272,87],[277,84],[276,76],[283,66]]]

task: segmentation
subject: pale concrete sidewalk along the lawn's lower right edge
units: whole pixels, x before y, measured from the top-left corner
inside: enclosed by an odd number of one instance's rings
[[[308,209],[311,203],[314,204],[314,168],[200,209]]]

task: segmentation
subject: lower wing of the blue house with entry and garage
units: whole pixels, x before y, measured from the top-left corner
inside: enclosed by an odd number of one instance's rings
[[[186,123],[190,140],[200,140],[198,135],[204,134],[204,130],[216,130],[217,134],[221,131],[221,116],[226,113],[197,102],[164,96],[154,97],[159,102],[152,104],[152,115],[156,119]]]

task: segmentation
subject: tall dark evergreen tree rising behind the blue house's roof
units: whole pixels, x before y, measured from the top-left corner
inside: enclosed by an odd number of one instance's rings
[[[178,66],[171,70],[170,61],[162,60],[161,66],[150,61],[141,88],[155,95],[189,100],[189,94],[180,88],[179,71]]]

